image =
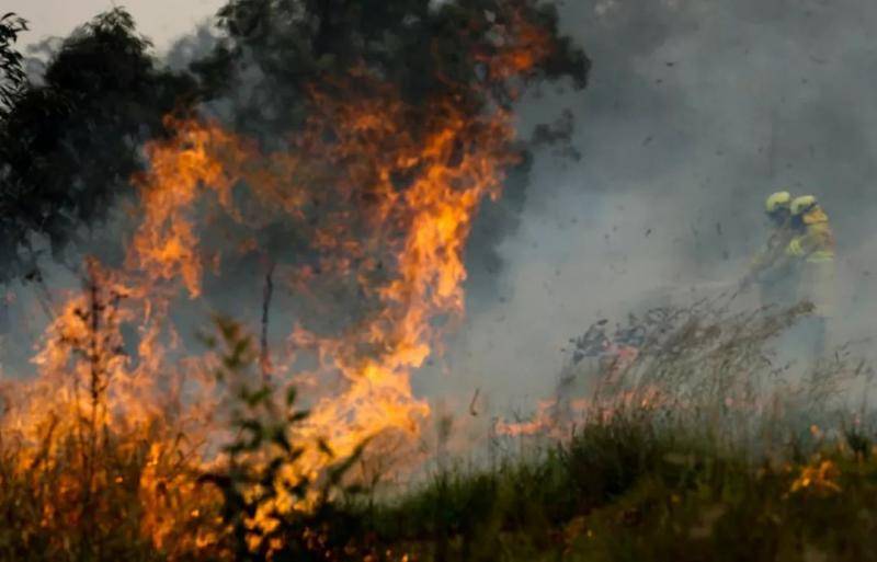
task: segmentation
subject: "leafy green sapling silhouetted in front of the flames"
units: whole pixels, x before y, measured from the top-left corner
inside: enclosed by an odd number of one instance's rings
[[[344,477],[362,456],[365,444],[344,459],[334,459],[327,444],[317,445],[327,458],[327,470],[318,479],[296,475],[284,469],[294,466],[308,444],[293,439],[296,428],[308,417],[297,410],[296,392],[289,388],[282,402],[274,388],[262,385],[252,366],[257,355],[252,340],[240,325],[217,319],[221,367],[217,378],[236,392],[231,426],[235,438],[225,447],[227,463],[218,471],[200,478],[219,489],[223,519],[231,529],[236,560],[327,560],[327,553],[350,547],[352,527],[340,525],[344,514],[333,501],[354,490],[345,486]],[[281,509],[278,504],[297,507]],[[308,509],[298,507],[309,505]],[[253,520],[261,521],[252,525]]]

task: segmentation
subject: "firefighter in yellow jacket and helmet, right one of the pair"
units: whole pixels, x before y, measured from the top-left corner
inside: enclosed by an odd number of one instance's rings
[[[812,195],[794,199],[789,210],[795,236],[786,248],[786,261],[798,271],[797,301],[813,307],[802,322],[808,351],[813,357],[821,357],[835,307],[834,233],[828,215]]]

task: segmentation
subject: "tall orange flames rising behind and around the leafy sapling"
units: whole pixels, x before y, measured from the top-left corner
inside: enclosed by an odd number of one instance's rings
[[[548,54],[535,30],[517,25],[517,49],[509,43],[490,60],[499,79],[525,73]],[[284,478],[319,478],[369,439],[377,456],[417,443],[430,406],[412,392],[411,375],[463,316],[466,241],[479,205],[499,195],[504,170],[519,161],[515,131],[502,108],[474,116],[438,99],[424,112],[363,70],[345,89],[363,94],[312,89],[310,117],[270,150],[209,119],[168,117],[174,135],[145,148],[148,170],[134,179],[124,264],[112,271],[90,262],[87,290],[46,333],[39,378],[11,400],[16,408],[4,428],[25,451],[22,470],[82,433],[83,420],[91,435],[112,428],[114,439],[151,443],[137,449],[148,459],[138,477],[144,534],[183,550],[215,542],[203,534],[181,538],[181,519],[215,513],[216,498],[192,474],[221,462],[209,451],[228,427],[218,421],[210,358],[186,356],[173,311],[209,298],[229,263],[270,263],[293,308],[343,320],[331,330],[310,322],[312,313],[272,320],[287,335],[264,375],[274,387],[301,389],[310,411],[289,429],[306,446]],[[77,469],[88,473],[80,496],[124,481],[99,470],[98,449]],[[86,505],[73,518],[95,509]]]

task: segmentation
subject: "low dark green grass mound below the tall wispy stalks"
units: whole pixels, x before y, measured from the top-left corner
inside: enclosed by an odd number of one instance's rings
[[[801,464],[773,452],[640,412],[537,461],[438,473],[365,516],[422,561],[875,560],[877,464],[843,441],[811,445]]]

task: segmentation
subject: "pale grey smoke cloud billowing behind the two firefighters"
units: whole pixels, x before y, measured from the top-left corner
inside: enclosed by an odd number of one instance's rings
[[[732,287],[763,241],[764,197],[778,188],[817,195],[832,219],[835,340],[873,335],[877,4],[560,9],[563,31],[594,61],[590,85],[528,100],[522,127],[572,108],[582,159],[537,159],[521,228],[502,245],[506,290],[459,334],[443,388],[480,388],[494,412],[532,409],[554,389],[561,347],[592,321]],[[754,295],[739,300],[758,306]]]

